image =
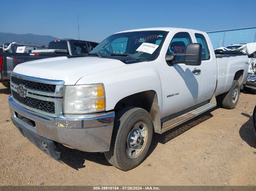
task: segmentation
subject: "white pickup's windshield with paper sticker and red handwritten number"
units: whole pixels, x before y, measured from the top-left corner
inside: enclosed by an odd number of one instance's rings
[[[113,34],[89,54],[155,60],[167,33],[167,31],[148,30]]]

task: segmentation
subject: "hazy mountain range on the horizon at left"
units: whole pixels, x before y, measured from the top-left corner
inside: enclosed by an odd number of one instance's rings
[[[1,33],[0,32],[0,45],[4,43],[16,42],[18,44],[30,44],[39,46],[48,46],[52,40],[59,40],[50,35],[36,35],[36,34],[15,34],[15,33]]]

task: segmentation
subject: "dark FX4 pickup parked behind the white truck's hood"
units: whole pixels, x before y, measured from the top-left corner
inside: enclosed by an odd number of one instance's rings
[[[23,62],[58,56],[84,56],[90,46],[92,49],[97,45],[85,40],[55,40],[49,43],[48,49],[32,50],[32,53],[0,53],[0,82],[10,88],[11,72]]]

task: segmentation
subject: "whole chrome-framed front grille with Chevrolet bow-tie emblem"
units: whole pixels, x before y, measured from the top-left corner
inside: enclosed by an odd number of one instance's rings
[[[64,81],[35,78],[11,73],[13,100],[27,110],[43,117],[63,114]]]

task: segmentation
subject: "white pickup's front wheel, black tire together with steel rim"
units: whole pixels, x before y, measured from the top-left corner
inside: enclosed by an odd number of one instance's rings
[[[153,123],[149,113],[138,107],[125,107],[114,121],[109,151],[105,157],[110,164],[131,170],[145,158],[153,135]]]

